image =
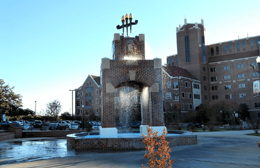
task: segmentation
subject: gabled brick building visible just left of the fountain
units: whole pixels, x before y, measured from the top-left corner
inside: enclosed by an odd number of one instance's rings
[[[82,108],[82,105],[84,108]],[[75,90],[75,115],[100,115],[100,77],[88,75],[82,86]]]

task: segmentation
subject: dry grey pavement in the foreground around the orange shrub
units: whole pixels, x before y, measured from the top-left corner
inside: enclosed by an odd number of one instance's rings
[[[260,137],[246,136],[253,131],[193,133],[198,144],[172,147],[174,168],[259,168]],[[75,156],[32,161],[0,168],[140,168],[146,164],[145,151],[76,152]]]

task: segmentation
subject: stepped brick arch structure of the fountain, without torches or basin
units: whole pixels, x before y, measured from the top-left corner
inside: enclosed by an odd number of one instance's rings
[[[145,60],[144,34],[124,37],[115,33],[112,45],[112,59],[101,61],[100,137],[117,137],[114,89],[125,85],[141,93],[142,126],[160,131],[164,125],[161,59]]]

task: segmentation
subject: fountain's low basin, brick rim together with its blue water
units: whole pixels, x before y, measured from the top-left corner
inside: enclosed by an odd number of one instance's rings
[[[178,133],[178,132],[176,132]],[[191,132],[168,134],[166,141],[169,147],[180,145],[196,145],[197,136]],[[74,150],[139,150],[145,149],[143,137],[139,133],[118,134],[117,138],[100,138],[88,133],[69,134],[66,137],[67,148]]]

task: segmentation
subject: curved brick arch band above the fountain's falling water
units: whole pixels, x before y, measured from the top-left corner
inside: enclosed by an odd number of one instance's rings
[[[116,87],[120,86],[121,83],[128,83],[130,81],[136,81],[136,82],[142,83],[144,86],[148,86],[148,87],[150,87],[154,83],[153,79],[148,78],[141,74],[135,74],[135,80],[130,80],[130,75],[125,74],[125,75],[117,76],[116,78],[114,78],[111,81],[111,84],[113,85],[114,88],[116,88]]]

